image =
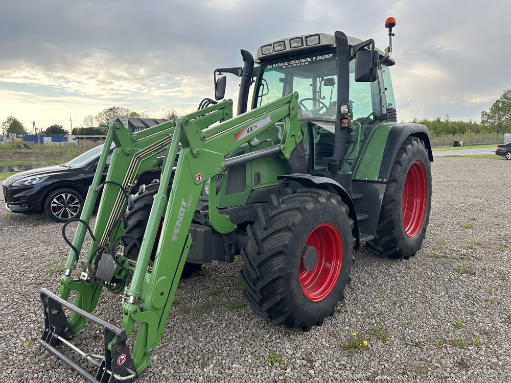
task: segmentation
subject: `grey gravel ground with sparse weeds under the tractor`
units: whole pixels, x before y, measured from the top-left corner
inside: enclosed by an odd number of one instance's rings
[[[238,280],[240,260],[210,265],[206,275],[181,283],[138,381],[367,381],[371,374],[389,382],[511,381],[509,165],[435,159],[422,249],[403,261],[356,252],[345,300],[307,333],[251,311]],[[43,325],[38,292],[57,291],[67,253],[60,227],[0,209],[1,381],[83,380],[36,342]],[[119,324],[118,297],[103,296],[96,314]],[[386,342],[371,335],[375,326],[389,333]],[[365,352],[342,349],[353,332],[367,340]],[[84,339],[87,333],[74,340]]]

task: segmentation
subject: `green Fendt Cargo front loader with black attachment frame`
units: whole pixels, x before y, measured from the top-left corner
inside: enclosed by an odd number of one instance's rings
[[[69,358],[58,351],[54,347],[55,344],[61,342],[69,346],[71,344],[69,339],[84,327],[86,320],[92,320],[105,329],[105,355],[102,362],[104,367],[99,368],[112,373],[107,372],[108,376],[102,373],[99,376],[98,372],[96,380],[90,381],[117,382],[122,379],[129,381],[133,378],[129,371],[140,374],[148,366],[150,355],[161,340],[192,243],[189,228],[202,185],[206,180],[215,178],[229,167],[230,162],[225,156],[276,122],[284,121],[280,142],[274,143],[269,148],[248,153],[246,157],[237,156],[236,163],[275,154],[289,160],[295,149],[298,149],[301,154],[298,155],[301,158],[300,161],[305,163],[305,155],[298,146],[303,141],[303,133],[298,125],[297,92],[235,118],[231,118],[232,105],[231,100],[225,100],[138,133],[130,132],[119,123],[108,124],[105,147],[94,181],[89,187],[72,244],[73,248],[65,264],[65,273],[60,277],[60,294],[56,296],[48,291],[41,293],[47,326],[40,342],[47,350],[62,358],[73,368],[75,368],[74,362],[69,363]],[[218,124],[215,125],[216,123]],[[108,169],[107,181],[101,184],[101,174],[104,171],[111,142],[115,143],[116,148]],[[179,143],[182,149],[179,152],[177,165],[174,167]],[[119,235],[123,231],[122,214],[126,208],[127,193],[135,184],[136,177],[156,164],[156,154],[165,148],[167,153],[162,164],[160,184],[154,196],[136,265],[129,266],[128,272],[119,266],[116,270],[116,275],[123,275],[125,281],[125,285],[120,286],[124,295],[122,295],[123,321],[119,328],[90,314],[98,303],[103,287],[112,290],[117,288],[117,285],[105,283],[94,275],[84,277],[84,273],[81,278],[76,279],[72,275],[73,270],[78,265],[92,208],[100,190],[103,188],[93,230],[94,235],[85,256],[85,262],[88,262],[88,265],[95,265],[98,257],[114,257],[105,249],[114,249],[119,244]],[[171,192],[167,197],[172,175]],[[211,214],[212,226],[223,233],[235,230],[236,225],[227,216],[218,212],[215,188],[210,188],[210,193],[209,210],[214,211]],[[162,223],[161,233],[157,240],[156,255],[151,268],[149,267],[151,252],[156,243],[160,223]],[[122,263],[123,254],[119,254],[116,259]],[[89,277],[89,280],[86,277]],[[74,304],[67,302],[72,292],[76,292]],[[63,314],[62,306],[71,310],[69,319]],[[52,326],[53,311],[58,313],[59,321]],[[119,357],[115,350],[124,347],[126,340],[135,332],[136,323],[138,328],[132,353],[124,352],[125,359],[120,360],[122,363],[119,364],[115,358]],[[77,351],[76,346],[69,347]],[[77,352],[80,353],[80,351]],[[80,354],[88,355],[83,351]],[[122,367],[124,365],[127,367]],[[119,368],[124,370],[115,372],[119,371]],[[87,379],[92,376],[81,368],[75,368],[75,370]]]

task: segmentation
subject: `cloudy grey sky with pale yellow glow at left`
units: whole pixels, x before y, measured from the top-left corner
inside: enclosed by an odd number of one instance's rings
[[[213,96],[214,68],[242,64],[241,48],[255,56],[272,40],[340,30],[383,50],[387,16],[398,119],[479,121],[511,87],[509,15],[504,0],[2,0],[0,122],[68,129],[112,105],[192,111]]]

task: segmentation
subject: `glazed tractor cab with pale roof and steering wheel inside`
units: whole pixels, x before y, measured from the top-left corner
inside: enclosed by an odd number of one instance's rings
[[[298,119],[304,132],[304,145],[309,171],[325,172],[334,154],[335,122],[339,76],[349,77],[347,91],[348,118],[342,170],[355,170],[367,138],[384,122],[396,122],[396,105],[392,92],[389,66],[394,61],[375,50],[377,70],[374,81],[357,78],[357,58],[353,47],[362,40],[347,37],[349,73],[337,73],[334,36],[324,33],[295,36],[259,47],[258,76],[252,108],[265,105],[288,93],[299,94]],[[370,52],[370,47],[363,50]],[[361,63],[362,65],[364,63]],[[358,71],[362,69],[358,68]],[[362,80],[362,81],[361,81]],[[345,80],[344,80],[345,81]],[[341,83],[343,79],[341,79]]]

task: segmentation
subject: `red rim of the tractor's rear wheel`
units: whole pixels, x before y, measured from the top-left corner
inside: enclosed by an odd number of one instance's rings
[[[401,202],[401,217],[406,235],[413,238],[421,229],[426,211],[426,172],[419,161],[414,161],[406,173]]]

